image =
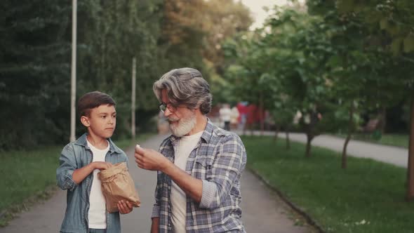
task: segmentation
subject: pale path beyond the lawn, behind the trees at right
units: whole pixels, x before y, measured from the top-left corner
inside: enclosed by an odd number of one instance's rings
[[[241,131],[236,131],[236,133],[239,135],[242,134]],[[246,131],[246,135],[251,135],[251,131]],[[261,133],[260,131],[253,131],[253,135],[261,135]],[[274,132],[264,131],[263,135],[274,135]],[[278,136],[286,138],[285,133],[279,133]],[[306,143],[306,135],[304,133],[289,133],[289,138],[295,142]],[[336,152],[342,152],[344,142],[345,139],[343,138],[331,135],[318,135],[312,140],[312,145],[332,149]],[[374,159],[403,168],[407,168],[408,163],[408,149],[362,142],[359,140],[349,141],[347,154],[352,157]]]

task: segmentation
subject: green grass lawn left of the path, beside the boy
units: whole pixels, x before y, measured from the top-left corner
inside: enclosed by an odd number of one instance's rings
[[[140,135],[144,141],[150,134]],[[119,140],[121,149],[133,145],[132,140]],[[0,227],[7,225],[15,213],[27,210],[41,199],[48,199],[56,186],[56,168],[64,145],[32,151],[0,152]]]

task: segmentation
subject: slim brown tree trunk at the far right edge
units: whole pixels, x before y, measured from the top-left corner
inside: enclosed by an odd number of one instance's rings
[[[407,196],[408,201],[414,200],[414,94],[411,94],[410,110],[410,142],[408,143]]]

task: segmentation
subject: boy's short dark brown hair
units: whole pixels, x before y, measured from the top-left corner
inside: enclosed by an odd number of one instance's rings
[[[92,91],[86,93],[78,100],[78,112],[80,116],[89,116],[91,109],[100,105],[116,105],[115,100],[107,93]]]

